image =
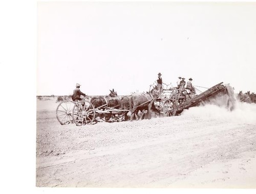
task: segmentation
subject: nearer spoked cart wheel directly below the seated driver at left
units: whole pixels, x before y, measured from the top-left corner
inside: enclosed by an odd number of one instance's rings
[[[95,118],[95,108],[90,101],[84,100],[75,105],[73,120],[77,126],[92,124]]]

